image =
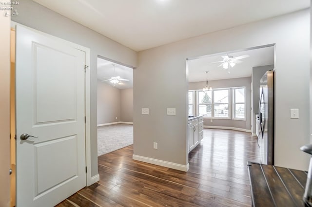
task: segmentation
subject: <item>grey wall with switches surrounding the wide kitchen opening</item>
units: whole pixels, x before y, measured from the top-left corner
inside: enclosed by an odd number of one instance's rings
[[[309,9],[139,52],[139,67],[134,70],[134,154],[188,163],[186,58],[273,43],[274,163],[307,169],[309,156],[300,147],[310,143]],[[141,115],[141,108],[149,108],[150,114]],[[176,116],[167,116],[166,108],[176,108]],[[299,109],[299,119],[290,119],[291,108]],[[153,142],[158,150],[153,150]]]

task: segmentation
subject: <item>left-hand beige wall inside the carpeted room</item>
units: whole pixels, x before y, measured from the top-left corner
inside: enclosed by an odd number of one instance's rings
[[[98,124],[120,121],[120,94],[119,89],[98,80]]]

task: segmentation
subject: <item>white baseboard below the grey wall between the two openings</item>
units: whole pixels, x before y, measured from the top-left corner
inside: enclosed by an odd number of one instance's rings
[[[142,162],[146,162],[146,163],[150,163],[150,164],[154,164],[154,165],[163,166],[166,168],[181,170],[184,172],[187,172],[190,169],[189,163],[187,165],[181,165],[181,164],[167,162],[167,161],[163,161],[163,160],[157,160],[157,159],[150,158],[150,157],[143,157],[143,156],[135,155],[135,154],[132,155],[132,159],[142,161]]]

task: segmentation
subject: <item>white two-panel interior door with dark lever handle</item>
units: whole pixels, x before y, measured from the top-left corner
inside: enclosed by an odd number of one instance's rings
[[[53,207],[86,186],[85,53],[16,32],[17,207]]]

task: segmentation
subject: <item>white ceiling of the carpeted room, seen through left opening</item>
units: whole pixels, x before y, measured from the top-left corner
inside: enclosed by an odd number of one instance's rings
[[[115,73],[114,73],[114,65]],[[128,79],[129,81],[120,81],[119,83],[112,84],[110,81],[105,83],[116,87],[117,89],[128,89],[133,88],[133,69],[123,65],[102,59],[98,57],[98,80],[103,81],[113,76],[120,76],[120,78]]]

